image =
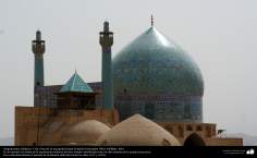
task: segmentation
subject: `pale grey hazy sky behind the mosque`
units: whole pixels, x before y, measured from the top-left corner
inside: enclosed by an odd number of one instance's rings
[[[101,78],[103,21],[113,57],[155,27],[186,50],[205,81],[204,122],[257,135],[256,0],[0,0],[0,137],[14,136],[14,107],[33,106],[37,29],[46,40],[45,84],[75,72]]]

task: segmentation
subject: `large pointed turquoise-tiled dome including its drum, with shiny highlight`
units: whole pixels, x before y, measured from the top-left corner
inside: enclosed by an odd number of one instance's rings
[[[115,104],[123,119],[135,112],[154,120],[200,121],[203,118],[200,70],[181,47],[155,27],[114,57],[113,84]],[[159,97],[167,99],[158,100]],[[160,117],[160,101],[164,101],[162,107],[168,107],[163,110],[173,112]]]

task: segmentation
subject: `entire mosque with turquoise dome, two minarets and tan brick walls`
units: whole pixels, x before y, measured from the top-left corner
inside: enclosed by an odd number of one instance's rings
[[[44,84],[45,40],[37,31],[34,107],[15,107],[15,145],[242,146],[203,122],[204,80],[196,62],[151,26],[114,58],[103,23],[101,82],[75,72],[64,85]]]

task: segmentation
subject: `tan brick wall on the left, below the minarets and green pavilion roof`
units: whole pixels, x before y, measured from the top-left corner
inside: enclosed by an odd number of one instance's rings
[[[119,122],[117,110],[58,110],[15,107],[15,145],[58,145],[61,132],[72,123],[98,120],[112,126]]]

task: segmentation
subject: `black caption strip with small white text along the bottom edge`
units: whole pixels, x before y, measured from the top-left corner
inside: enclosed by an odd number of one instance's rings
[[[254,154],[246,154],[247,150]],[[1,156],[53,157],[256,157],[257,146],[1,146]],[[44,155],[45,154],[45,155]]]

